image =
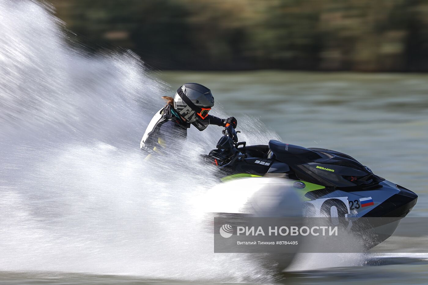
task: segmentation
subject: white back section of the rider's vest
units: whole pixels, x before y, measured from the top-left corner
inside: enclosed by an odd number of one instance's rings
[[[159,131],[160,127],[167,121],[177,121],[179,119],[172,114],[171,105],[167,104],[165,107],[156,112],[149,125],[144,132],[141,139],[140,148],[152,152],[156,146],[159,146]],[[187,123],[187,128],[190,128],[190,123]]]

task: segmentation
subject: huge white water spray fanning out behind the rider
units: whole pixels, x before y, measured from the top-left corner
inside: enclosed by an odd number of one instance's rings
[[[268,278],[247,255],[214,254],[193,211],[215,183],[197,156],[221,130],[192,130],[182,165],[144,163],[145,122],[169,86],[132,53],[87,56],[60,24],[0,0],[0,270]],[[272,137],[246,124],[247,138]]]

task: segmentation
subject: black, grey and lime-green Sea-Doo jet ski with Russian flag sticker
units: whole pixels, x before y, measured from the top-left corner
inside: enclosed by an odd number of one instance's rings
[[[238,142],[229,125],[217,148],[203,161],[221,181],[244,177],[280,177],[315,217],[405,217],[416,205],[412,191],[375,175],[348,154],[270,140],[268,145]],[[335,206],[335,207],[333,207]]]

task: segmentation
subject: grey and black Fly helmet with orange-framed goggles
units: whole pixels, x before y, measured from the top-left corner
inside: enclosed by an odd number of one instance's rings
[[[186,83],[175,93],[174,109],[199,131],[207,128],[209,122],[205,118],[213,106],[211,90],[201,84]]]

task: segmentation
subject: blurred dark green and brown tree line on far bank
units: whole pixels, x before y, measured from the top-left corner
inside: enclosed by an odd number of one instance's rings
[[[428,0],[52,0],[85,44],[161,69],[428,71]]]

